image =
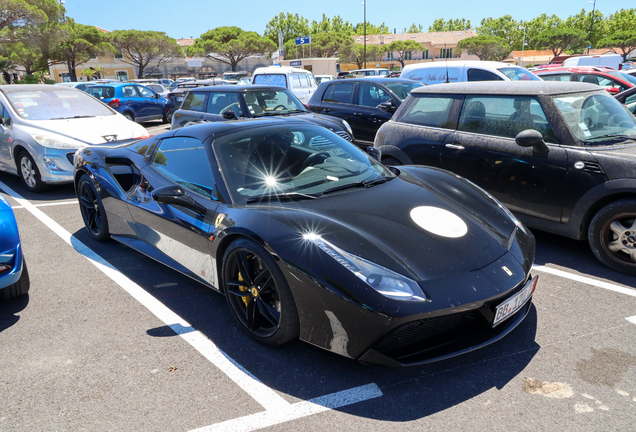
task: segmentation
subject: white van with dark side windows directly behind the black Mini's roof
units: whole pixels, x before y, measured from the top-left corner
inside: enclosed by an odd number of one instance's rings
[[[400,78],[426,85],[464,81],[541,81],[528,69],[503,62],[479,60],[410,64],[404,67]]]

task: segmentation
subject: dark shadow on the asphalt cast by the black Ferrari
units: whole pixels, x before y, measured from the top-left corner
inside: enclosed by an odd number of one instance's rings
[[[375,419],[408,421],[447,409],[490,389],[503,388],[517,379],[540,348],[535,342],[534,306],[519,327],[502,340],[422,366],[390,369],[364,365],[300,341],[267,347],[240,329],[219,293],[115,241],[95,242],[84,229],[74,236],[289,402],[375,383],[383,397],[339,410]],[[149,328],[146,334],[177,336],[169,326]]]

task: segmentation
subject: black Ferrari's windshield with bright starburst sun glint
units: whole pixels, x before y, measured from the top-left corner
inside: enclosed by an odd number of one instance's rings
[[[232,201],[239,205],[318,198],[394,177],[353,144],[315,125],[250,128],[217,138],[212,148]]]

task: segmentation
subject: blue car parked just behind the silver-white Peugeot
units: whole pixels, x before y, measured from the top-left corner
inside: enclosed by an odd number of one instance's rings
[[[162,120],[168,123],[168,100],[146,86],[135,83],[101,84],[87,88],[86,93],[123,114],[128,120]]]

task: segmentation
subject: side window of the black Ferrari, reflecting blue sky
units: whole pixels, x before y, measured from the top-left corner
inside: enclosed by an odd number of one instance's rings
[[[152,166],[165,177],[206,198],[218,199],[214,175],[203,143],[195,138],[165,138],[159,144]]]

